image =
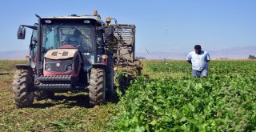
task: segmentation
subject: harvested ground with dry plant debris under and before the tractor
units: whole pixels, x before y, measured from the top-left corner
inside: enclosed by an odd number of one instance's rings
[[[13,75],[0,75],[0,131],[105,131],[115,103],[92,108],[86,93],[66,93],[19,109],[12,99]]]

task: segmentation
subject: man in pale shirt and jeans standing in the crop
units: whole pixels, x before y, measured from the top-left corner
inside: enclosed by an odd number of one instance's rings
[[[193,77],[207,77],[208,76],[208,62],[210,62],[210,55],[203,51],[200,45],[194,46],[194,51],[187,55],[186,61],[192,64]]]

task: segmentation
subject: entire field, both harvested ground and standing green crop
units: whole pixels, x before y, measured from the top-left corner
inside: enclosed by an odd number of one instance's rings
[[[185,61],[143,62],[143,74],[119,99],[90,107],[86,93],[55,94],[18,109],[14,64],[0,61],[0,131],[255,131],[256,62],[212,61],[192,78]],[[122,89],[122,88],[120,88]]]

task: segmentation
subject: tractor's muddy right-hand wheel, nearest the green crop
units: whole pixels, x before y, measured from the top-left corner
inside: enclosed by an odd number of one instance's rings
[[[92,68],[90,71],[89,97],[90,105],[97,106],[105,102],[106,74],[101,68]]]

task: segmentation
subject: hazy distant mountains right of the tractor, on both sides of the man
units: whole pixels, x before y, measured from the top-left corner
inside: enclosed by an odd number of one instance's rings
[[[230,58],[230,59],[247,59],[249,55],[256,55],[256,46],[234,47],[223,50],[207,50],[210,58]],[[188,53],[180,52],[150,52],[136,53],[138,57],[146,59],[186,59]]]

